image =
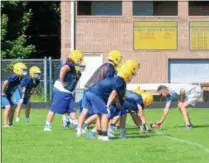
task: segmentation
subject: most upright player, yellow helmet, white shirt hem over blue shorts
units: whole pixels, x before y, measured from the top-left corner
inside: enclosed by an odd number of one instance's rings
[[[68,113],[69,106],[74,103],[72,92],[77,77],[75,66],[83,67],[83,58],[84,55],[80,50],[73,50],[66,63],[61,67],[58,79],[54,83],[52,103],[46,118],[44,131],[51,131],[51,122],[56,113]]]

